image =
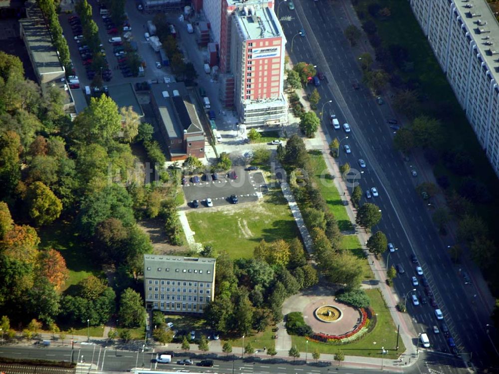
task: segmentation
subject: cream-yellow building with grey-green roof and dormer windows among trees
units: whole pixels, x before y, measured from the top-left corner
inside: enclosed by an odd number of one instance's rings
[[[147,310],[203,313],[215,295],[216,259],[144,255]]]

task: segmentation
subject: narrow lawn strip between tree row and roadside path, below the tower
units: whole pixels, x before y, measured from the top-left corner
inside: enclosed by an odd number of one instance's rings
[[[320,151],[309,151],[308,153],[310,154],[312,166],[315,170],[315,182],[319,187],[322,197],[329,206],[329,209],[338,220],[340,230],[352,230],[352,223],[346,213],[346,208],[343,205],[342,199],[336,189],[336,186],[334,185],[332,177],[327,171],[326,162],[324,161],[324,157],[322,157],[322,153]]]

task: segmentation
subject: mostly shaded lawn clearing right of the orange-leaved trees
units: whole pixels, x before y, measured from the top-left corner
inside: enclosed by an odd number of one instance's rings
[[[56,222],[51,226],[38,231],[41,243],[40,248],[53,248],[59,251],[66,260],[69,270],[69,279],[64,284],[62,291],[93,274],[100,276],[102,272],[97,269],[88,254],[89,248],[78,238],[73,227],[66,222]],[[86,334],[86,332],[85,332]]]

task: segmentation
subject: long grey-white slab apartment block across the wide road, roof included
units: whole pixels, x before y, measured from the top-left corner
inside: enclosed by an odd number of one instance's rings
[[[499,24],[486,0],[409,0],[499,175]]]

